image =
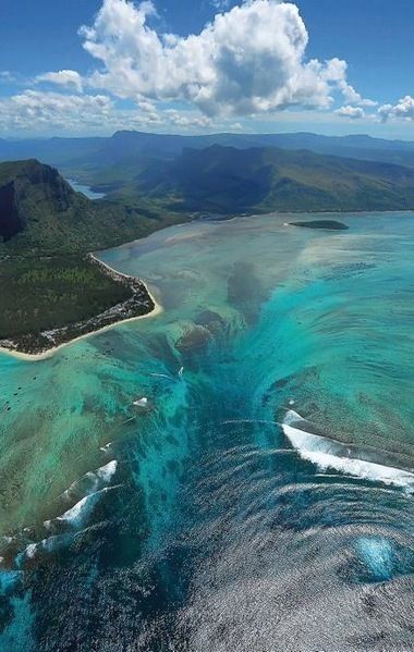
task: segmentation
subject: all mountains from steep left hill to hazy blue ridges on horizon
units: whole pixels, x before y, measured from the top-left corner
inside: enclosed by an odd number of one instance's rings
[[[118,132],[0,140],[3,157],[0,256],[83,255],[203,213],[414,210],[414,144],[368,136]],[[74,192],[49,162],[107,196]]]

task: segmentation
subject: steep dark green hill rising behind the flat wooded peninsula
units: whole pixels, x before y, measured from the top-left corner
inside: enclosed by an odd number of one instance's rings
[[[0,163],[0,257],[85,254],[147,235],[169,220],[168,213],[90,201],[35,159]]]

